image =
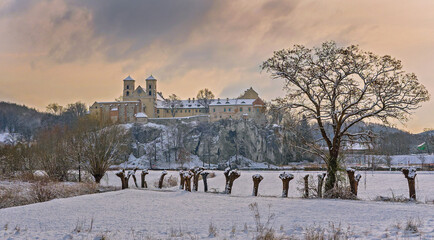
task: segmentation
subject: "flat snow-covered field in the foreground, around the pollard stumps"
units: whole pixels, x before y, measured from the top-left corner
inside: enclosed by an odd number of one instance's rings
[[[214,172],[209,188],[219,192],[224,189],[224,176],[221,171]],[[257,173],[264,177],[259,186],[261,196],[252,197],[251,176]],[[215,239],[252,239],[258,233],[249,204],[255,202],[262,223],[269,212],[275,214],[267,227],[273,227],[276,235],[305,239],[307,234],[340,229],[344,235],[360,239],[434,238],[433,204],[369,200],[391,196],[391,191],[407,196],[407,182],[400,172],[362,173],[362,201],[301,199],[297,180],[317,172],[291,172],[295,179],[290,182],[289,198],[281,198],[279,173],[241,171],[228,196],[203,193],[202,182],[199,192],[178,187],[157,190],[153,182],[161,171],[150,171],[147,190],[132,187],[131,179],[127,190],[1,209],[0,239],[208,239],[210,232],[216,233]],[[139,180],[139,172],[136,175]],[[170,175],[179,177],[175,171],[166,177]],[[419,172],[416,179],[418,199],[434,199],[434,173]],[[120,186],[120,180],[109,172],[102,184]],[[416,231],[406,230],[409,221]],[[215,231],[210,231],[210,226]]]

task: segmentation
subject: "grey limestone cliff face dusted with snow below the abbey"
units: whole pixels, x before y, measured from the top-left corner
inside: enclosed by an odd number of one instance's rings
[[[205,163],[243,164],[254,162],[285,164],[294,161],[282,130],[278,126],[250,120],[221,120],[208,123],[135,124],[131,127],[133,154],[163,162],[179,161],[185,149]]]

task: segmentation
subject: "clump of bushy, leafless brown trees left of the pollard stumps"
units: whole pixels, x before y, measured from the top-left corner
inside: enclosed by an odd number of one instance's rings
[[[71,180],[71,172],[83,172],[99,183],[106,171],[129,151],[129,131],[122,126],[105,125],[83,116],[70,125],[40,130],[34,141],[0,149],[2,173],[33,172],[36,169],[52,179]]]

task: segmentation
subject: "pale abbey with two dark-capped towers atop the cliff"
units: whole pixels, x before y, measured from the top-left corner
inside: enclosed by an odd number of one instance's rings
[[[90,114],[102,121],[133,123],[191,117],[209,121],[260,118],[264,110],[265,103],[252,88],[238,98],[166,99],[157,91],[157,79],[151,75],[145,80],[144,87],[136,87],[136,81],[128,76],[123,80],[122,101],[95,102],[90,107]]]

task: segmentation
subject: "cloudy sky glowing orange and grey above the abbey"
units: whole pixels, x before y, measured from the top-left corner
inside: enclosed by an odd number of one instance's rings
[[[400,59],[434,93],[434,1],[0,0],[0,101],[111,101],[122,80],[153,75],[181,98],[253,87],[283,96],[260,64],[273,51],[324,41]],[[397,127],[434,128],[434,101]]]

